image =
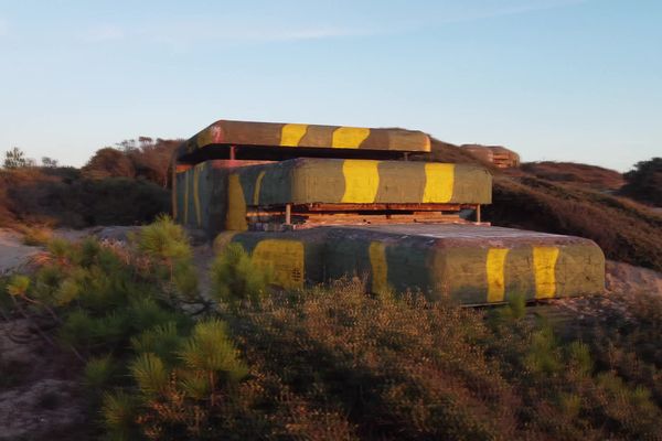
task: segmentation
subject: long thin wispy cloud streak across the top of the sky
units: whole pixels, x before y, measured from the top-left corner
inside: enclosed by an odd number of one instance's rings
[[[84,41],[164,44],[185,50],[195,44],[241,45],[313,41],[406,33],[446,23],[471,22],[570,7],[590,0],[476,0],[442,7],[405,7],[391,17],[349,22],[344,15],[299,20],[250,14],[186,17],[146,20],[130,26],[114,23],[92,25]],[[445,3],[444,3],[445,4]],[[397,12],[397,11],[396,11]],[[360,14],[359,14],[360,15]],[[353,19],[356,19],[354,17]],[[370,24],[366,24],[370,23]]]

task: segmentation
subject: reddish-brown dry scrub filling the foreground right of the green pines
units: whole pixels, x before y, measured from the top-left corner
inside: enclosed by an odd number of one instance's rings
[[[235,409],[245,419],[235,423],[263,421],[267,439],[662,435],[656,424],[662,401],[651,383],[662,363],[627,348],[649,345],[659,352],[649,335],[654,326],[631,338],[611,333],[600,341],[629,351],[627,366],[647,361],[643,369],[627,374],[626,365],[605,366],[606,349],[577,342],[579,334],[560,340],[522,314],[523,308],[506,308],[485,321],[484,311],[416,295],[375,299],[357,281],[238,311],[227,320],[252,379],[242,389],[244,407]],[[604,323],[587,323],[581,335],[600,333],[598,326]]]

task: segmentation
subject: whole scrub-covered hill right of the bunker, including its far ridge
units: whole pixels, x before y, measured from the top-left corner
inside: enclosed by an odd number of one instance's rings
[[[573,162],[527,163],[500,170],[458,146],[434,140],[435,160],[488,166],[494,175],[492,205],[483,219],[493,225],[586,237],[608,259],[662,271],[662,215],[630,198],[608,194],[623,176]]]

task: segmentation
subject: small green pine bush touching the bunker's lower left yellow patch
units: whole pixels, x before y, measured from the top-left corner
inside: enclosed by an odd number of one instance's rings
[[[258,268],[241,244],[228,244],[211,269],[212,293],[216,300],[237,306],[256,303],[267,294],[269,271]]]

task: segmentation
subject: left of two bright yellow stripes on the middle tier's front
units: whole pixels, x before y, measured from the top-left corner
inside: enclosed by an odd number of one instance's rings
[[[375,202],[380,187],[380,161],[351,160],[342,163],[345,190],[342,196],[343,203],[372,203]]]

